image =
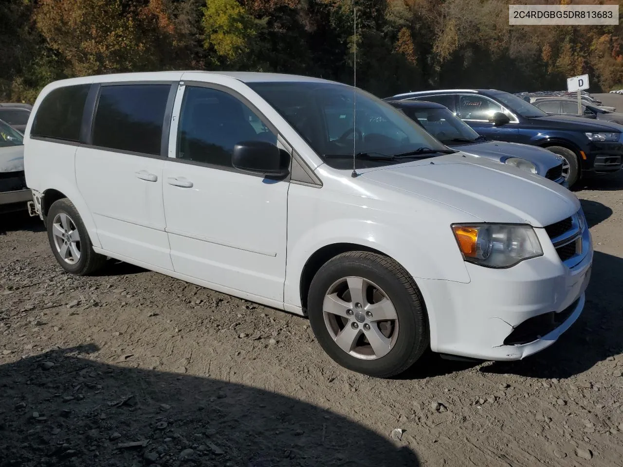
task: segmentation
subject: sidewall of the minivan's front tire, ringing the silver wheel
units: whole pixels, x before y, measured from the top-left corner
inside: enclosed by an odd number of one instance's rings
[[[379,359],[365,360],[347,354],[335,343],[326,328],[323,316],[325,294],[333,283],[348,276],[363,277],[378,285],[396,309],[399,322],[396,344],[386,356]],[[396,374],[397,369],[404,367],[404,363],[412,359],[414,349],[428,344],[426,322],[422,322],[421,309],[420,313],[415,309],[419,306],[421,304],[414,303],[412,296],[391,271],[366,259],[334,258],[320,268],[310,285],[308,295],[310,324],[324,351],[347,369],[378,377]]]

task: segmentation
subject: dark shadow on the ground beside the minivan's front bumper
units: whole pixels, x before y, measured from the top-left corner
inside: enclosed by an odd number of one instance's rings
[[[595,252],[586,306],[553,346],[518,362],[495,362],[480,370],[537,378],[578,375],[623,351],[623,259]]]

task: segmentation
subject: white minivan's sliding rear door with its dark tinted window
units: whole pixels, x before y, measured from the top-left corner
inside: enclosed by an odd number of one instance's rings
[[[167,270],[162,134],[170,91],[171,84],[102,85],[92,144],[75,155],[78,189],[102,248]]]

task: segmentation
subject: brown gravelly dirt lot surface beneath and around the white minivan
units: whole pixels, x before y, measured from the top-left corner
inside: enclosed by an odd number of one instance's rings
[[[0,217],[0,466],[623,466],[623,176],[576,194],[579,321],[522,362],[395,380],[298,316],[124,263],[69,276],[40,220]]]

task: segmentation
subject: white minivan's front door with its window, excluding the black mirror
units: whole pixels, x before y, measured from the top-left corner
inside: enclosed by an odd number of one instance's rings
[[[175,130],[163,171],[174,270],[282,302],[289,182],[232,166],[236,143],[277,144],[277,134],[234,92],[188,83],[176,98]]]

